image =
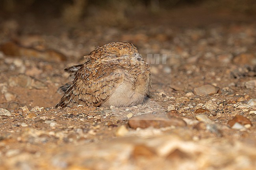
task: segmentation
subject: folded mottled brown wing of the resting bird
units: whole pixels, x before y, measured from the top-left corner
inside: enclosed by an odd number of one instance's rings
[[[124,82],[124,73],[115,66],[100,63],[82,66],[57,106],[100,106]]]

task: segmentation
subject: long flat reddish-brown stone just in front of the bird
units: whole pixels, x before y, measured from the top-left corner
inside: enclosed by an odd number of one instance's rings
[[[143,114],[139,116],[132,117],[128,124],[131,128],[148,128],[150,126],[154,128],[162,128],[167,126],[187,126],[187,123],[176,117],[168,118],[166,114],[162,115],[152,115],[152,114]]]

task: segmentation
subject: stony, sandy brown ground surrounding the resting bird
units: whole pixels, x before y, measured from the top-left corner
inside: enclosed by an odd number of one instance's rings
[[[256,167],[254,16],[184,7],[125,27],[47,20],[2,19],[0,169]],[[146,101],[55,108],[63,69],[113,41],[134,43],[152,66]]]

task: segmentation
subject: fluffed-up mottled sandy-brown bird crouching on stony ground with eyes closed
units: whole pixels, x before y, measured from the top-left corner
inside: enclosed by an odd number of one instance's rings
[[[85,62],[69,68],[71,81],[56,108],[77,105],[131,107],[142,104],[151,89],[151,66],[128,42],[96,46]]]

